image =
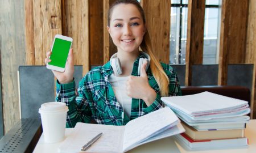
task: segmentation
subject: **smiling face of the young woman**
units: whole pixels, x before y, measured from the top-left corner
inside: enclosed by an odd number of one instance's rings
[[[114,6],[108,31],[118,51],[138,51],[145,33],[139,10],[132,4]]]

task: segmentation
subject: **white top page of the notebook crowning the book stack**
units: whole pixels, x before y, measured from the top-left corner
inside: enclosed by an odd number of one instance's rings
[[[161,100],[187,114],[225,111],[247,105],[247,101],[234,99],[211,92],[187,96],[162,97]]]

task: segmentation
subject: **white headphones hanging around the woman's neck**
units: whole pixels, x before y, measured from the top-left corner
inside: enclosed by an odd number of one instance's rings
[[[146,71],[148,69],[148,66],[150,65],[150,56],[148,56],[147,53],[141,52],[146,58],[139,58],[139,65],[138,65],[138,75],[141,75],[141,66],[144,62],[147,61]],[[112,69],[114,71],[115,75],[121,75],[122,74],[122,67],[119,58],[117,57],[117,53],[113,54],[113,56],[110,58],[110,65],[112,66]]]

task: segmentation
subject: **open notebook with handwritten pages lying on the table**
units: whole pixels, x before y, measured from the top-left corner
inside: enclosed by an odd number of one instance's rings
[[[77,123],[59,152],[126,152],[184,131],[180,120],[166,107],[131,120],[125,126]],[[101,132],[102,136],[88,150],[81,151],[85,143]]]

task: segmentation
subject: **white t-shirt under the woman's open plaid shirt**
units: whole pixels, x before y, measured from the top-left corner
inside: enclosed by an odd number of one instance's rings
[[[131,116],[131,97],[126,94],[126,82],[129,76],[117,77],[114,74],[109,76],[109,82],[114,90],[118,103],[123,107],[127,116]]]

